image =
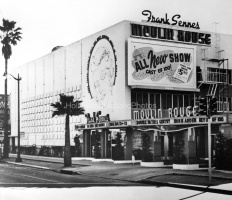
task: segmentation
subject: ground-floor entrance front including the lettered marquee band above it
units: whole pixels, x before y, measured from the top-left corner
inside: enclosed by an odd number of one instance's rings
[[[172,124],[166,121],[162,125],[154,125],[154,121],[143,120],[120,121],[116,126],[112,126],[116,122],[109,122],[108,125],[88,124],[76,128],[82,130],[83,134],[83,157],[113,160],[132,160],[134,157],[136,160],[164,164],[206,163],[207,118],[191,119],[196,123]],[[226,122],[226,118],[217,117],[211,124],[212,155],[215,153],[215,137],[221,130],[222,121]]]

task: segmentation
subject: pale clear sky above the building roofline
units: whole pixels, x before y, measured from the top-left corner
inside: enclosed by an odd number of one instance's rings
[[[232,34],[231,0],[0,0],[0,25],[4,18],[22,28],[23,39],[12,47],[8,70],[123,20],[146,20],[143,10],[156,17],[180,14],[183,21],[198,22],[201,31],[215,31],[217,23],[218,32]],[[0,93],[4,69],[0,56]]]

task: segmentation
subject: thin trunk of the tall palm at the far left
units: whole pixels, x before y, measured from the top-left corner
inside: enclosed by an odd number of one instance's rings
[[[7,98],[7,59],[5,59],[5,110],[4,110],[4,151],[3,157],[9,157],[9,138],[8,138],[8,98]]]

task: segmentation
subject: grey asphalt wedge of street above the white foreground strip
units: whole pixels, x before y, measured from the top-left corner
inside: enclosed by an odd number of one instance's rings
[[[98,177],[67,175],[51,170],[0,163],[0,187],[77,187],[77,186],[132,186],[128,181]]]

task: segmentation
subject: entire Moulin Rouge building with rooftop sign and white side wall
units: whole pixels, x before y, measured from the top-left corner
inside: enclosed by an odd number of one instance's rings
[[[64,146],[64,117],[52,118],[59,94],[82,100],[86,115],[70,119],[71,145],[80,135],[83,157],[116,159],[117,134],[124,155],[141,159],[148,134],[154,162],[172,164],[175,135],[184,141],[185,163],[208,157],[206,116],[197,115],[198,98],[217,97],[215,134],[231,137],[231,35],[200,30],[180,15],[148,22],[123,21],[18,67],[21,83],[21,145]],[[12,135],[17,136],[17,85],[12,82]],[[96,142],[97,145],[96,145]],[[213,151],[213,150],[212,150]]]

